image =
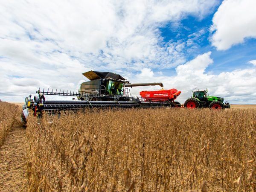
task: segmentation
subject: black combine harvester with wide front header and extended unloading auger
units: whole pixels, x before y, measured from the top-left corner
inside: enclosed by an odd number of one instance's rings
[[[140,83],[131,84],[122,76],[111,72],[89,71],[83,73],[90,81],[81,84],[77,92],[38,90],[38,96],[25,98],[25,105],[21,113],[21,119],[26,123],[30,113],[41,117],[45,111],[50,114],[60,113],[65,110],[77,111],[86,108],[152,108],[152,107],[174,107],[172,99],[166,98],[139,98],[131,96],[129,89],[125,87],[160,85],[163,83]],[[45,95],[72,96],[75,100],[47,100]],[[176,97],[176,96],[175,96]],[[30,109],[30,110],[29,110]]]

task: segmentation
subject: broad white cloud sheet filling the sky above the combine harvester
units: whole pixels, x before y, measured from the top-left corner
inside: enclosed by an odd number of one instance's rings
[[[217,4],[218,0],[1,1],[1,99],[20,101],[38,87],[77,89],[87,70],[120,71],[129,77],[145,68],[183,64],[184,43],[163,44],[159,27],[190,15],[200,20]]]

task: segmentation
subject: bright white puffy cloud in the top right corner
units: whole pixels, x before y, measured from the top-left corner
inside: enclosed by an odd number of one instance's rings
[[[224,0],[212,19],[212,45],[226,50],[245,38],[256,38],[255,7],[255,0]]]

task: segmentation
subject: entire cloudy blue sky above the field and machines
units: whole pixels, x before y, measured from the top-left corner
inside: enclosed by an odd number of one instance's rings
[[[0,99],[77,90],[88,70],[256,104],[255,0],[0,2]],[[160,87],[134,87],[131,93]],[[50,98],[51,99],[51,98]]]

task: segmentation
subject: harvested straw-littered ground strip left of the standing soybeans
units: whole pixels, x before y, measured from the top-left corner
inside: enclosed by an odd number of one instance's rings
[[[26,191],[26,129],[15,125],[0,150],[0,191]]]

